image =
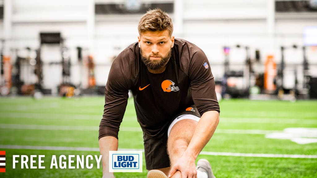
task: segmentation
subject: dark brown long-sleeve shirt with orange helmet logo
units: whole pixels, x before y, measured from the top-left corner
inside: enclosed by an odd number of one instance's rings
[[[163,73],[153,74],[147,70],[137,42],[115,58],[105,88],[99,139],[118,138],[129,90],[133,93],[138,122],[149,137],[161,136],[172,119],[191,105],[195,105],[201,115],[211,110],[220,112],[206,55],[182,39],[175,39]]]

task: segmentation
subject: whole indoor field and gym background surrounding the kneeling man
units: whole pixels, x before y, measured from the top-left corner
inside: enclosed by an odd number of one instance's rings
[[[317,0],[0,0],[0,177],[102,176],[49,159],[100,154],[111,64],[154,8],[204,50],[224,98],[199,157],[214,174],[316,178]],[[119,138],[121,150],[144,150],[131,98]],[[13,169],[13,155],[46,155],[46,169]],[[143,161],[142,173],[115,176],[145,177]]]

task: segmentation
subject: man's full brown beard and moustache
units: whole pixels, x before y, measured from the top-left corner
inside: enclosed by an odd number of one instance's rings
[[[158,69],[164,67],[167,64],[167,62],[170,59],[171,54],[172,54],[172,50],[170,49],[170,51],[168,52],[168,54],[166,56],[161,56],[160,60],[151,60],[150,59],[151,55],[143,56],[143,52],[142,52],[141,48],[140,48],[140,51],[141,51],[141,60],[143,61],[145,66],[151,70],[158,70]],[[157,56],[157,55],[158,54],[153,54],[153,56]]]

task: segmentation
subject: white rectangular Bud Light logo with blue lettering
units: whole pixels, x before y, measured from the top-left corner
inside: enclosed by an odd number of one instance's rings
[[[142,172],[142,151],[109,151],[109,172]]]

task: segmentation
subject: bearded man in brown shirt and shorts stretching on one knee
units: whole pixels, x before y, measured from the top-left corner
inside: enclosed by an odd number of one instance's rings
[[[147,177],[214,177],[207,160],[195,164],[220,113],[206,55],[172,35],[172,20],[160,9],[144,14],[138,30],[138,42],[115,58],[106,84],[99,126],[103,177],[114,178],[109,173],[109,151],[118,149],[129,90],[143,130]]]

